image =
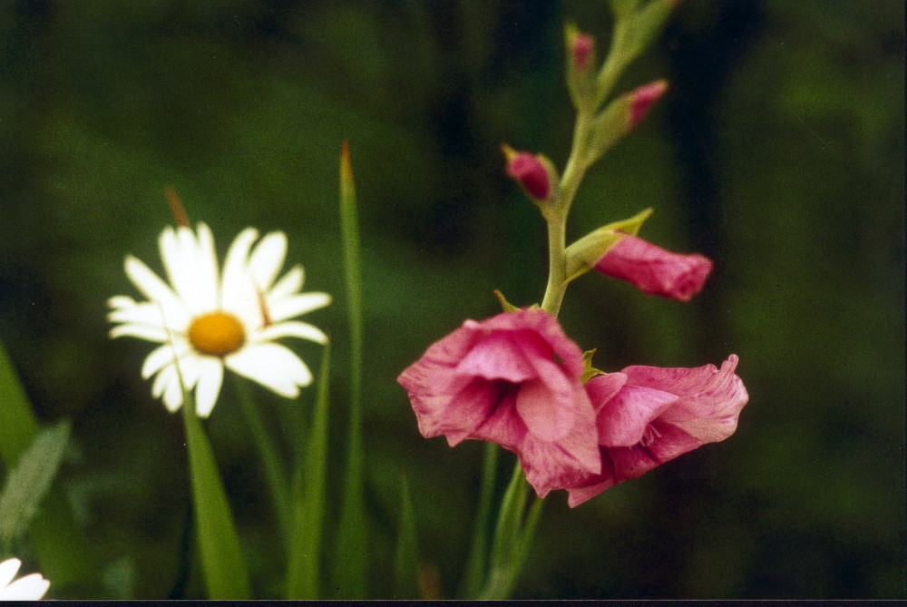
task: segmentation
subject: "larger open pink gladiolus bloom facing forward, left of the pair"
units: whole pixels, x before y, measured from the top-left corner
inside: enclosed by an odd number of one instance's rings
[[[595,414],[580,348],[541,309],[467,320],[397,381],[426,438],[487,440],[520,457],[541,497],[599,475]]]

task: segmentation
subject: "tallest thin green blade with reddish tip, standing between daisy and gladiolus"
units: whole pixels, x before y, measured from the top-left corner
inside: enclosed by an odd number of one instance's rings
[[[366,596],[367,559],[362,445],[362,269],[356,188],[346,142],[340,156],[340,230],[346,275],[346,306],[349,310],[351,396],[346,486],[337,531],[332,583],[337,597],[363,599]]]

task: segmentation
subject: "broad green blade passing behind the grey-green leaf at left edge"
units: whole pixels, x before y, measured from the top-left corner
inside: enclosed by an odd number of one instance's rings
[[[0,457],[7,470],[15,466],[38,435],[38,422],[25,397],[12,362],[0,344]],[[51,594],[74,586],[90,586],[97,567],[85,536],[75,521],[63,485],[51,485],[40,511],[28,528],[41,573],[51,580]]]

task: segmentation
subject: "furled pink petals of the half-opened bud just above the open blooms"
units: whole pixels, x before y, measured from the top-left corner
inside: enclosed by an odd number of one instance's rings
[[[672,253],[628,235],[601,256],[595,269],[629,280],[649,295],[689,301],[705,284],[712,262],[702,255]]]

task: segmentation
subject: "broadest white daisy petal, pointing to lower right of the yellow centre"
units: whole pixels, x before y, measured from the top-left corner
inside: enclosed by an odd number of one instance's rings
[[[312,383],[312,373],[291,350],[279,344],[255,344],[224,358],[224,365],[282,397],[295,398],[300,386]]]

